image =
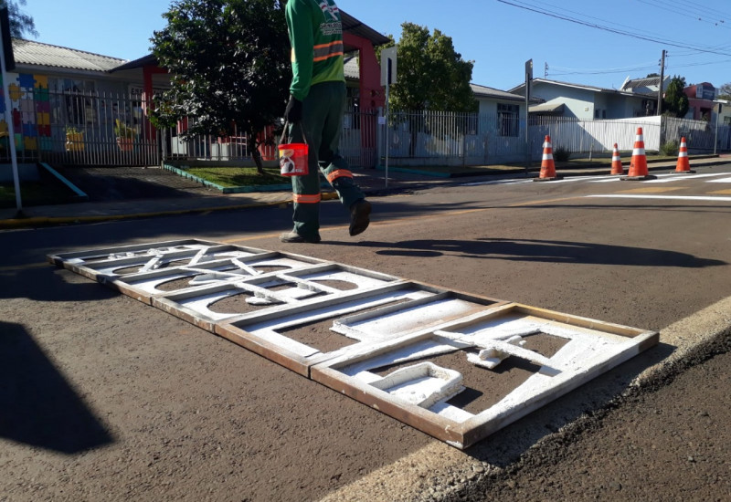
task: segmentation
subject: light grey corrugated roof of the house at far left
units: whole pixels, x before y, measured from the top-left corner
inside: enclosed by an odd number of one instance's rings
[[[52,46],[21,38],[13,39],[13,56],[16,65],[37,65],[50,68],[109,71],[126,60],[93,54],[69,47]]]

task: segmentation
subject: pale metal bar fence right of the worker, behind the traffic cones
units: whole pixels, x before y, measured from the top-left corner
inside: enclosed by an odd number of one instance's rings
[[[393,165],[478,165],[540,160],[546,136],[554,150],[563,148],[574,157],[632,150],[639,128],[645,150],[657,152],[668,141],[686,138],[692,152],[729,152],[729,127],[700,120],[641,117],[620,120],[577,120],[531,117],[525,120],[497,113],[393,113],[380,133],[381,156]],[[388,127],[388,134],[385,128]],[[388,144],[386,144],[388,137]],[[715,147],[715,148],[714,148]],[[527,152],[526,152],[527,149]]]

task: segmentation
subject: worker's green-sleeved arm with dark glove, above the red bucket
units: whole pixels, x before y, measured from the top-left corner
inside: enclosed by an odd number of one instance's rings
[[[294,99],[302,101],[310,93],[313,81],[313,10],[312,0],[287,2],[287,28],[291,44],[291,86]]]

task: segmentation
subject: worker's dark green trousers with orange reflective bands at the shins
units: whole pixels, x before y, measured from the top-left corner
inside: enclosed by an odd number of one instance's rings
[[[309,173],[291,177],[294,231],[306,238],[319,235],[320,173],[333,186],[346,208],[364,198],[363,192],[353,182],[348,163],[338,153],[344,112],[344,82],[315,84],[302,101],[302,129],[291,124],[288,131],[291,142],[302,142],[303,131],[309,145]],[[298,198],[302,202],[298,202]]]

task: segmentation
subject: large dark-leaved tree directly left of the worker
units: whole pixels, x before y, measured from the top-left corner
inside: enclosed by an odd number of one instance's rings
[[[243,131],[259,173],[258,137],[281,118],[291,79],[284,2],[177,0],[154,32],[153,54],[172,75],[151,120],[172,127],[192,118],[183,139]]]

